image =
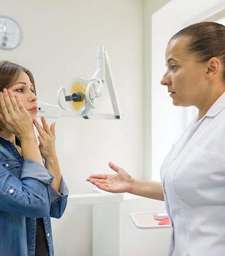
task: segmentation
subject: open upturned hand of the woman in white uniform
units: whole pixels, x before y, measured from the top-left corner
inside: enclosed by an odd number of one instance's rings
[[[116,164],[109,162],[109,167],[113,169],[116,174],[93,174],[86,180],[103,189],[112,193],[124,193],[131,190],[133,178]]]

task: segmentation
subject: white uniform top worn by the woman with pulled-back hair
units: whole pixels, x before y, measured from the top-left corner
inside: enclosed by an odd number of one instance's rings
[[[173,145],[161,172],[169,256],[225,255],[225,93]]]

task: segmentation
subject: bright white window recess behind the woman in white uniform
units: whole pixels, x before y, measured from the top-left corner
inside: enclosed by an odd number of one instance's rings
[[[193,109],[175,107],[167,87],[160,86],[165,72],[164,52],[169,39],[186,25],[201,22],[224,9],[221,0],[172,0],[152,16],[152,177],[159,178],[160,165],[183,133]],[[195,111],[196,114],[196,111]]]

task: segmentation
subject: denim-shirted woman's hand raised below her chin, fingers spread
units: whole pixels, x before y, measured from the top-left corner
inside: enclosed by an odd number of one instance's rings
[[[37,120],[33,120],[36,129],[38,130],[39,149],[42,157],[47,160],[56,156],[55,150],[55,124],[53,122],[50,127],[47,125],[44,116],[41,116],[42,127]]]

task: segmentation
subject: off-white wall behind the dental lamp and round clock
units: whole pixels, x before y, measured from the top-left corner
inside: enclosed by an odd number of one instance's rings
[[[142,178],[142,1],[1,0],[0,15],[13,18],[23,31],[22,43],[0,50],[0,56],[33,71],[42,102],[56,104],[61,86],[92,76],[97,46],[108,47],[124,119],[57,120],[57,152],[70,193],[91,192],[85,178],[110,172],[109,161]],[[99,109],[113,113],[108,95]],[[89,205],[69,206],[61,220],[53,220],[56,255],[91,255],[91,216]]]

